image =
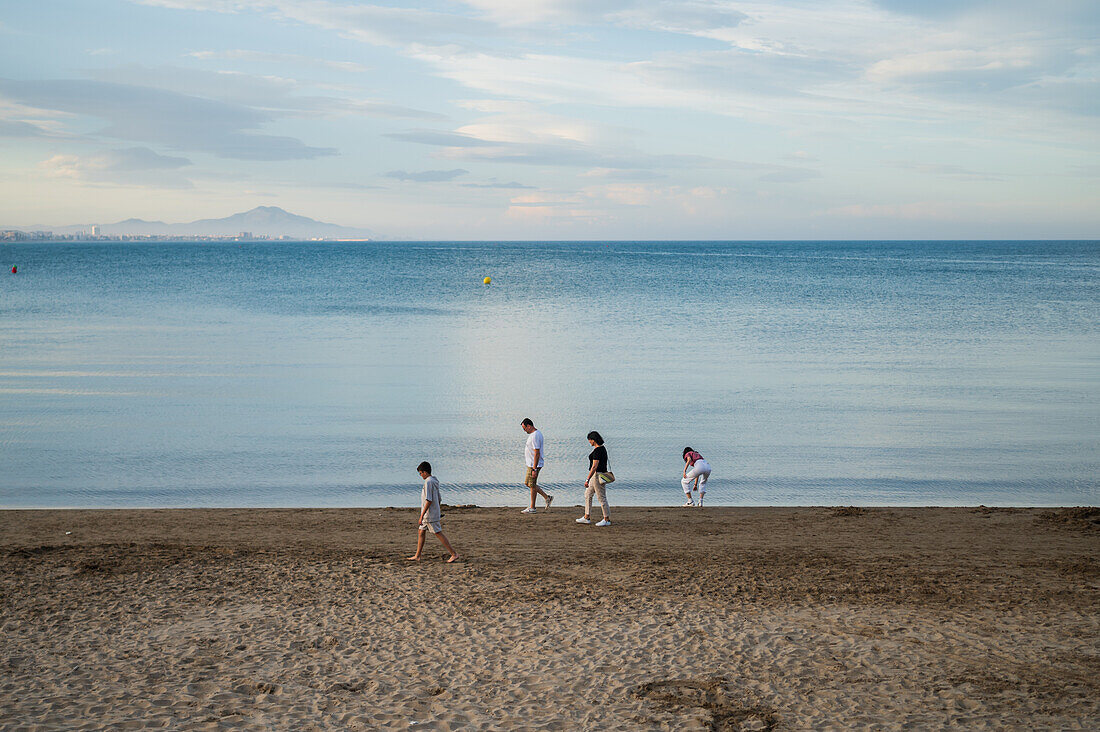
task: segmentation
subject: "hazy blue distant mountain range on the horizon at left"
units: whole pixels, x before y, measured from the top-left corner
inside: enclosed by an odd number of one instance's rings
[[[293,237],[295,239],[372,239],[367,229],[355,229],[338,223],[326,223],[306,216],[290,214],[277,206],[257,206],[251,211],[233,214],[223,219],[199,219],[189,223],[165,223],[127,219],[117,223],[84,223],[73,226],[11,227],[20,231],[52,231],[55,234],[91,232],[98,226],[105,237],[233,237],[248,231],[253,237]],[[3,228],[3,227],[0,227]]]

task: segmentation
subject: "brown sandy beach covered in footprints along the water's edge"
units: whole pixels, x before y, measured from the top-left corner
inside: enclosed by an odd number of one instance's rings
[[[576,515],[0,512],[0,728],[1100,729],[1100,512]]]

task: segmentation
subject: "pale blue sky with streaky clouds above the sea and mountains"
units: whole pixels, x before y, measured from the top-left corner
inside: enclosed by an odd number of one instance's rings
[[[0,228],[1100,238],[1094,0],[0,1]]]

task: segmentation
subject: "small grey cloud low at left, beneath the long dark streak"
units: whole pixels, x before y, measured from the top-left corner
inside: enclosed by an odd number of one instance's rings
[[[84,156],[54,155],[40,167],[54,177],[85,183],[190,188],[191,182],[177,173],[190,164],[186,157],[161,155],[148,148],[125,148]]]

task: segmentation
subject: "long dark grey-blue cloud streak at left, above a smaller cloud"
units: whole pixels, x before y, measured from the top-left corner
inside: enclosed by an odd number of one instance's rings
[[[255,161],[334,155],[288,136],[252,130],[273,119],[265,111],[150,87],[80,79],[0,79],[0,96],[50,110],[106,120],[98,134]]]

